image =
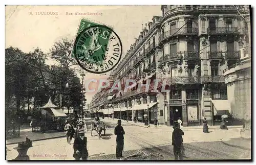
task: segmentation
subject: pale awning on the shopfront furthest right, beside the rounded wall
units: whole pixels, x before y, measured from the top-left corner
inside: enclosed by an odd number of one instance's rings
[[[214,115],[230,114],[230,104],[227,100],[211,100],[214,105]]]

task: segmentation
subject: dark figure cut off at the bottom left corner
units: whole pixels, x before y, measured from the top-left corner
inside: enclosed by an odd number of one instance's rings
[[[18,156],[12,160],[29,160],[27,152],[30,147],[32,147],[32,141],[26,137],[26,142],[20,142],[18,147],[14,148],[14,150],[18,151]]]

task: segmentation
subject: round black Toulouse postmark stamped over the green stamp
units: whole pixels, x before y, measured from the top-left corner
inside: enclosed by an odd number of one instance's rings
[[[84,29],[76,37],[74,55],[84,70],[102,74],[112,70],[120,61],[122,43],[111,28],[96,25]]]

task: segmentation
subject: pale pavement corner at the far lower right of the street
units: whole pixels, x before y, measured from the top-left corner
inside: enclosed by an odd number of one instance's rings
[[[241,148],[243,150],[251,150],[251,140],[245,138],[231,138],[229,140],[221,141],[223,144],[231,147]]]

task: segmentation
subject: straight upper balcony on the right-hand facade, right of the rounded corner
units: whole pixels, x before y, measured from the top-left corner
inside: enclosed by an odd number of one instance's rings
[[[207,34],[239,34],[238,27],[207,28]]]

